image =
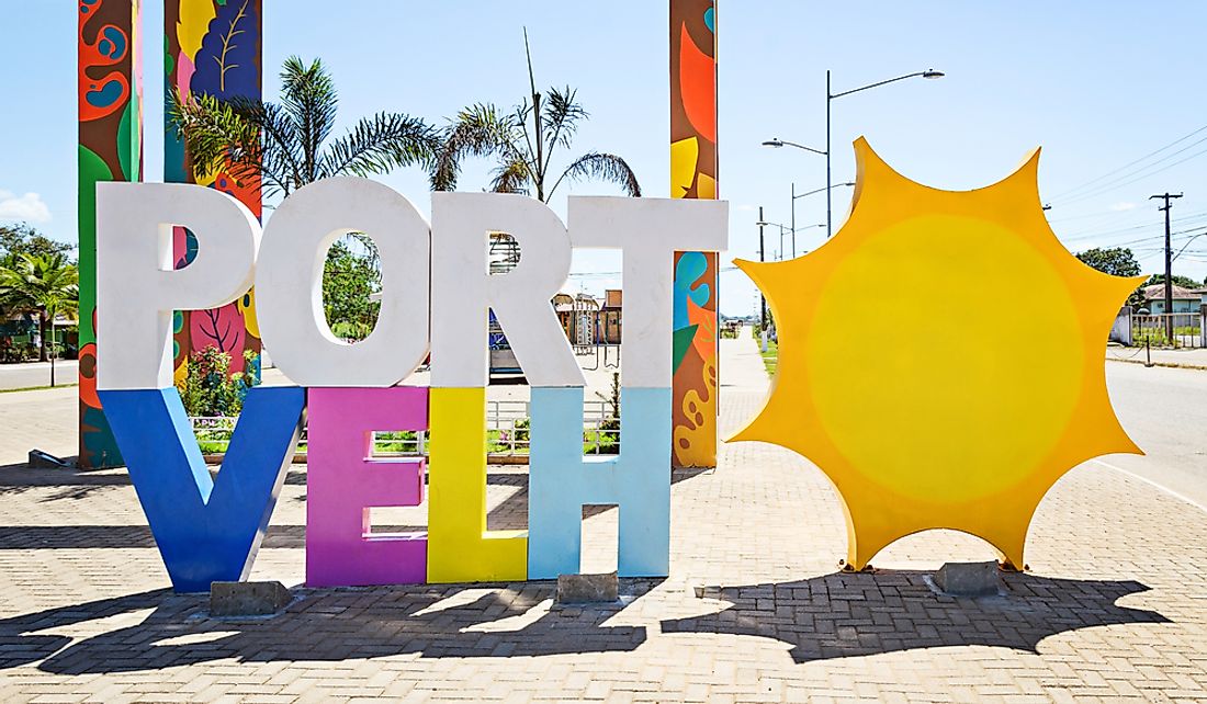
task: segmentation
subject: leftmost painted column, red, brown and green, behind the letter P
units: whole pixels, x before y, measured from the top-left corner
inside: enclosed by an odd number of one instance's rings
[[[97,182],[141,177],[140,7],[80,0],[78,11],[80,467],[121,467],[97,397]]]

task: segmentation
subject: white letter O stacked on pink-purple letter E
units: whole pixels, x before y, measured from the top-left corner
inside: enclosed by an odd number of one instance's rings
[[[349,345],[327,327],[322,270],[332,242],[352,231],[378,247],[381,310],[368,338]],[[264,231],[256,268],[260,330],[276,366],[313,387],[307,435],[310,586],[421,582],[426,576],[424,535],[372,534],[369,512],[419,505],[424,498],[422,460],[374,458],[372,436],[374,430],[427,429],[427,389],[393,385],[427,357],[430,241],[427,222],[409,200],[351,177],[297,190]]]

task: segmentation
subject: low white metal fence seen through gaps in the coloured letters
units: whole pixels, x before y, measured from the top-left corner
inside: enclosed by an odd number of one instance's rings
[[[583,404],[583,453],[617,454],[620,450],[619,423],[611,404],[587,400]],[[191,417],[193,435],[203,454],[223,454],[238,418]],[[530,444],[531,413],[529,401],[486,401],[486,454],[496,460],[526,460]],[[307,453],[307,430],[302,430],[297,453]],[[426,430],[374,430],[371,457],[426,457]]]

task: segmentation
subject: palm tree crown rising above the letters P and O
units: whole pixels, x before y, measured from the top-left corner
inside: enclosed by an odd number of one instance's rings
[[[362,118],[328,142],[338,107],[336,82],[322,61],[305,65],[290,57],[281,68],[280,104],[177,92],[169,115],[198,177],[225,170],[238,181],[258,182],[267,198],[330,176],[432,164],[439,134],[398,112]]]

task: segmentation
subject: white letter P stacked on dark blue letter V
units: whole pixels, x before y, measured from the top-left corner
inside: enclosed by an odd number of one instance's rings
[[[174,310],[215,307],[251,283],[260,224],[217,190],[156,183],[97,187],[97,305],[101,403],[124,451],[173,586],[202,592],[251,569],[301,433],[305,392],[252,391],[211,480],[173,386]],[[173,270],[171,228],[197,235]]]

